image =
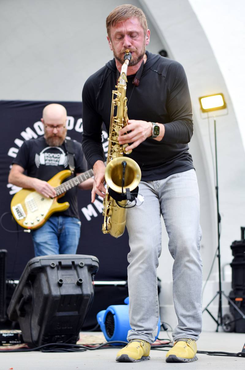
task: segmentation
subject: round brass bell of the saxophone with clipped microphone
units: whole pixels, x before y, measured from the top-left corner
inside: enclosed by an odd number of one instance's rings
[[[125,175],[123,176],[122,162],[126,162]],[[105,170],[105,180],[109,188],[117,193],[122,193],[122,182],[124,177],[123,192],[126,188],[133,191],[139,185],[141,171],[137,162],[128,157],[117,157],[112,159]]]

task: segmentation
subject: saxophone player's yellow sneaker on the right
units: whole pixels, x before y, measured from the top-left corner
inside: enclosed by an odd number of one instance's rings
[[[166,362],[196,361],[196,342],[191,338],[181,338],[173,343],[173,347],[166,354]]]

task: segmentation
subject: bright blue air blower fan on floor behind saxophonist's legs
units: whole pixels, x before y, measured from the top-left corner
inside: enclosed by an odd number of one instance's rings
[[[131,329],[129,324],[129,297],[125,298],[124,303],[125,305],[109,306],[106,310],[97,313],[97,321],[107,342],[113,340],[127,342],[128,331]],[[153,333],[155,339],[158,337],[160,326],[159,318],[158,326]]]

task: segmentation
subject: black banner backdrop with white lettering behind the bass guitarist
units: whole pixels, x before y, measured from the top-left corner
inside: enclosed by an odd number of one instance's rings
[[[53,101],[0,101],[1,112],[1,148],[0,148],[0,201],[1,201],[1,244],[0,249],[7,249],[7,279],[19,279],[27,261],[34,257],[30,233],[8,232],[17,230],[17,223],[10,213],[10,202],[20,188],[8,184],[8,174],[13,158],[24,140],[43,135],[43,108]],[[82,139],[82,103],[57,102],[67,110],[67,137],[81,142]],[[103,147],[107,152],[107,132],[103,131]],[[129,252],[128,233],[119,239],[104,235],[101,231],[102,199],[96,197],[91,203],[90,191],[78,192],[78,205],[82,222],[79,254],[94,255],[99,259],[99,272],[96,280],[126,280],[127,254]],[[107,307],[105,307],[106,309]]]

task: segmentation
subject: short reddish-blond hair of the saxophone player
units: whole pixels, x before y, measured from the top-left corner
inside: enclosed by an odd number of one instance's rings
[[[145,14],[140,8],[137,8],[136,6],[130,4],[117,6],[106,18],[107,35],[110,37],[110,27],[115,26],[116,23],[125,21],[126,19],[133,17],[138,18],[146,35],[148,26]]]

